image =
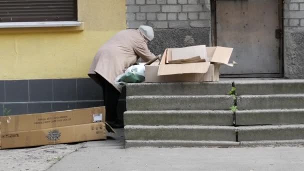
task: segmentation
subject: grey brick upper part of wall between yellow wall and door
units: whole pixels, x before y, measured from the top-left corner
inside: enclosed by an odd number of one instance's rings
[[[127,28],[210,27],[209,0],[126,0]]]

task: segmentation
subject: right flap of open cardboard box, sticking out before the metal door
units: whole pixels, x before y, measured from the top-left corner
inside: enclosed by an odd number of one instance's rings
[[[211,62],[229,64],[233,48],[216,46]]]

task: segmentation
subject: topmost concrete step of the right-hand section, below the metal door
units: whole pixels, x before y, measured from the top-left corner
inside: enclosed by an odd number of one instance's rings
[[[236,80],[238,95],[304,93],[304,79]]]

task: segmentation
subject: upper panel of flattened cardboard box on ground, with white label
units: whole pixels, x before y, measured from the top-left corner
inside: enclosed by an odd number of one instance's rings
[[[101,120],[98,120],[101,119]],[[105,121],[105,108],[92,107],[36,114],[21,114],[0,117],[1,133],[62,127]]]

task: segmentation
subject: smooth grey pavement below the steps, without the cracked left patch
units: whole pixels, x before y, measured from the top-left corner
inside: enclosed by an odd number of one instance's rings
[[[123,130],[91,141],[52,165],[54,170],[303,170],[304,147],[123,148]]]

